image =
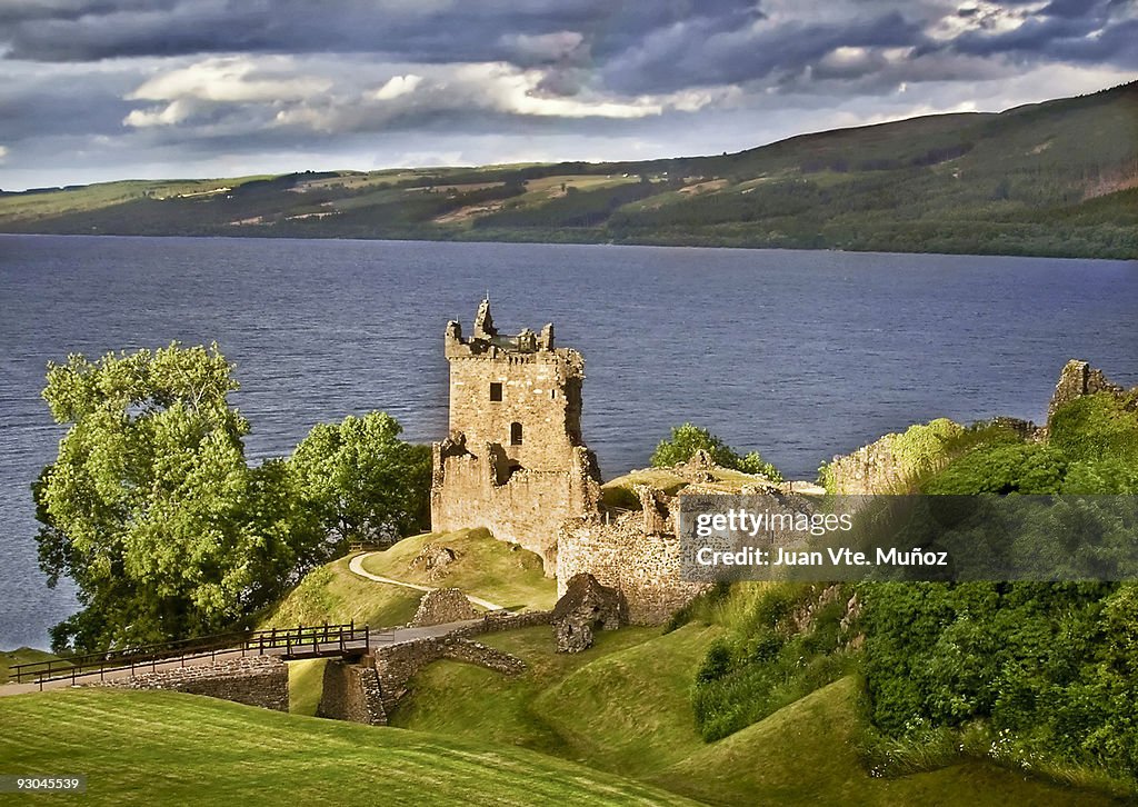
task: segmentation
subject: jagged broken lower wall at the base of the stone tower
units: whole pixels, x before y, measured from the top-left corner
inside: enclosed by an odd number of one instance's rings
[[[431,489],[436,533],[485,527],[500,541],[538,554],[546,576],[556,566],[558,528],[569,518],[596,512],[600,484],[588,450],[572,448],[566,471],[518,471],[496,484],[490,464],[469,454],[440,461],[442,484]]]

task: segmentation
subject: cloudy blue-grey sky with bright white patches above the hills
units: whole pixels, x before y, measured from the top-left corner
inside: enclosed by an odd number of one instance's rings
[[[0,0],[0,189],[648,159],[1138,79],[1138,0]]]

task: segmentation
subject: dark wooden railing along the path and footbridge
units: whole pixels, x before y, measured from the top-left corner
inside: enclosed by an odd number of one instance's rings
[[[366,625],[356,627],[355,620],[344,625],[297,625],[289,628],[270,628],[267,631],[241,631],[238,633],[221,633],[176,642],[143,644],[122,650],[108,650],[101,653],[71,656],[48,661],[19,664],[9,668],[9,681],[15,683],[39,683],[40,689],[49,681],[71,680],[98,675],[106,680],[107,673],[149,668],[157,672],[159,665],[208,658],[216,661],[218,656],[240,653],[263,656],[272,653],[284,659],[323,658],[345,656],[347,653],[371,650],[372,641],[390,642],[394,632],[390,629],[372,635]]]

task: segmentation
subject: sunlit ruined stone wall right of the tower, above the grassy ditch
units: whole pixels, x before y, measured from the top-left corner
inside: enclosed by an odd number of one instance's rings
[[[570,578],[591,574],[628,603],[634,625],[661,625],[707,587],[681,578],[679,538],[674,532],[646,533],[644,514],[625,513],[566,522],[558,544],[558,596]]]

